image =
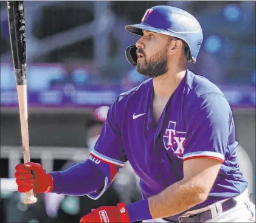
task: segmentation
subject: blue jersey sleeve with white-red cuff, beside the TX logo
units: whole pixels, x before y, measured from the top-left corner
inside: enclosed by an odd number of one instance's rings
[[[234,124],[229,103],[223,95],[210,93],[193,106],[187,117],[183,161],[209,157],[224,162]]]

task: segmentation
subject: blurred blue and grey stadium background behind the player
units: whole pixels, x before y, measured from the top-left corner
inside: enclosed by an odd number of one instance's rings
[[[25,210],[19,194],[2,190],[13,188],[13,168],[21,160],[21,137],[6,1],[0,4],[0,177],[9,178],[9,183],[3,181],[3,187],[1,180],[1,208]],[[124,27],[140,22],[146,9],[160,4],[187,10],[201,23],[204,42],[197,62],[189,68],[220,86],[234,110],[241,146],[238,156],[255,202],[255,1],[25,1],[32,161],[52,171],[67,162],[86,159],[86,133],[92,113],[145,80],[126,61],[125,49],[138,37]],[[128,171],[132,173],[129,166]],[[137,187],[131,183],[135,195],[122,196],[123,191],[129,191],[126,180],[117,179],[113,187],[119,199],[139,199]],[[60,205],[60,215],[69,216],[63,217],[69,222],[76,221],[78,215],[72,218],[79,212],[72,214],[76,204],[67,199]],[[80,211],[83,213],[83,209]],[[0,222],[7,222],[7,212],[1,210]],[[29,218],[24,221],[42,222]],[[58,222],[51,218],[47,221]]]

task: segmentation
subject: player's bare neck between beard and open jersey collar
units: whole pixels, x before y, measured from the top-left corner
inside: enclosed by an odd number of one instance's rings
[[[171,69],[166,74],[153,79],[154,97],[159,99],[170,98],[171,94],[181,83],[186,69]]]

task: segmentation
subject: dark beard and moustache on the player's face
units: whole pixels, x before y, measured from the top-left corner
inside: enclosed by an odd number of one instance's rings
[[[167,53],[168,45],[161,51],[152,55],[148,60],[142,49],[137,50],[144,55],[143,60],[139,61],[136,66],[137,72],[147,77],[159,77],[167,72]]]

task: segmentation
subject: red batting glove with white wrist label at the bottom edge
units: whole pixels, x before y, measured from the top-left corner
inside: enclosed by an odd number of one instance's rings
[[[130,222],[125,203],[117,204],[117,207],[102,206],[92,209],[92,212],[81,218],[81,222]]]

